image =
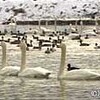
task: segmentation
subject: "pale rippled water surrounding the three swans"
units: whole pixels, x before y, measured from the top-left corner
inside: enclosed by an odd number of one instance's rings
[[[3,26],[2,26],[3,27]],[[20,26],[18,26],[20,27]],[[27,26],[21,26],[22,30]],[[24,28],[23,28],[24,27]],[[29,27],[29,26],[28,26]],[[32,26],[31,26],[32,27]],[[58,27],[63,30],[64,27]],[[86,26],[85,29],[90,28]],[[30,35],[29,35],[30,37]],[[99,36],[91,37],[85,42],[89,47],[80,47],[79,42],[66,39],[66,65],[71,63],[79,68],[99,69],[100,50],[94,49],[95,42],[100,43]],[[7,44],[7,65],[20,66],[20,49]],[[57,75],[60,66],[60,49],[49,55],[42,51],[27,51],[27,66],[47,68]],[[1,47],[0,47],[1,58]],[[1,61],[0,61],[1,65]],[[57,79],[32,79],[23,77],[0,76],[0,100],[99,100],[100,81],[69,81]],[[96,91],[96,92],[95,92]],[[95,92],[95,93],[94,93]]]

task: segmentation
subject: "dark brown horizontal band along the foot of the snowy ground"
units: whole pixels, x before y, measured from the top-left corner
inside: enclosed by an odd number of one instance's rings
[[[77,25],[80,25],[80,21],[81,20],[76,20],[76,19],[70,19],[70,20],[41,20],[40,24],[41,25],[46,25],[48,23],[48,25],[75,25],[77,22]],[[82,19],[83,25],[95,25],[96,20],[95,19]],[[98,25],[100,25],[100,20],[97,20]],[[3,25],[7,25],[10,22],[3,22]],[[35,20],[35,21],[16,21],[17,25],[39,25],[39,20]]]

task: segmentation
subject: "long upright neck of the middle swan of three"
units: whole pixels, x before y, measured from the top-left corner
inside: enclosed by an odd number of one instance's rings
[[[21,48],[21,68],[20,71],[23,71],[26,68],[26,43],[23,40],[20,44]]]

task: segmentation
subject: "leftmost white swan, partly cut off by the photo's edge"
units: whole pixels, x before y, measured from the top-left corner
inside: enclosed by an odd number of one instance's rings
[[[2,68],[0,70],[0,75],[12,75],[17,76],[20,71],[20,67],[18,66],[6,66],[6,43],[4,41],[1,42],[2,47]]]

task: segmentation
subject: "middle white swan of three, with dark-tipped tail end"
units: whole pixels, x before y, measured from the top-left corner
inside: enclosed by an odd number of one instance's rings
[[[31,78],[48,78],[49,74],[51,74],[51,71],[48,71],[47,69],[36,67],[36,68],[27,68],[26,67],[26,43],[25,41],[22,41],[20,45],[22,51],[22,62],[21,62],[21,71],[18,76],[21,77],[31,77]]]

